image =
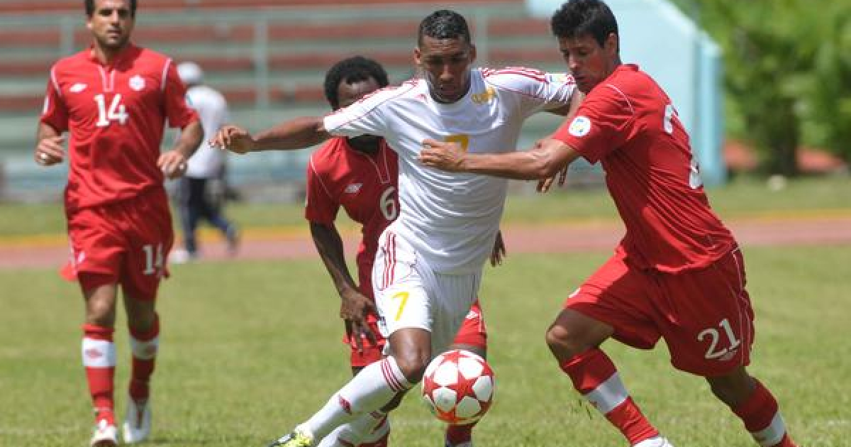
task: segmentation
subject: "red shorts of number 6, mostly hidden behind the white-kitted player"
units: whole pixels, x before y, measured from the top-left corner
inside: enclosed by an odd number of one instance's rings
[[[375,313],[368,315],[367,321],[369,323],[369,328],[372,329],[373,334],[375,334],[376,340],[378,341],[377,344],[373,345],[369,343],[365,337],[362,337],[363,352],[357,352],[357,345],[355,344],[355,341],[347,335],[343,336],[343,342],[351,348],[352,368],[363,368],[368,364],[377,362],[383,357],[386,340],[383,336],[381,336],[378,329],[378,315]],[[454,343],[481,347],[483,350],[488,346],[488,330],[485,328],[482,307],[479,306],[478,300],[476,300],[472,307],[470,307],[470,312],[467,313],[466,318],[464,318],[464,323],[461,324],[461,327],[458,330],[458,335],[455,336]]]

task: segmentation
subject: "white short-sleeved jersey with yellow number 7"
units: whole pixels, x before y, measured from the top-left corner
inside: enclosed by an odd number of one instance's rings
[[[471,70],[470,91],[453,104],[429,95],[425,79],[381,89],[324,118],[331,135],[380,135],[399,156],[400,214],[389,230],[436,272],[479,272],[494,248],[507,181],[448,173],[417,161],[423,140],[454,141],[471,153],[511,152],[523,120],[565,106],[573,77],[527,68]]]

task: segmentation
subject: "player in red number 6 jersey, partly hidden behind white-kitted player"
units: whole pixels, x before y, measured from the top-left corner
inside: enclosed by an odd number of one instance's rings
[[[350,106],[375,90],[386,87],[387,73],[380,64],[362,56],[340,60],[328,70],[324,89],[334,110]],[[372,269],[378,240],[399,212],[397,154],[378,136],[335,137],[313,152],[307,165],[305,216],[311,236],[322,257],[334,287],[340,293],[340,318],[345,320],[344,341],[351,348],[353,374],[382,358],[386,339],[381,335],[374,305]],[[357,278],[351,278],[340,232],[334,226],[340,208],[361,224],[363,239],[357,249]],[[492,262],[504,255],[502,239],[494,245]],[[485,356],[487,332],[476,302],[461,325],[453,348]],[[393,404],[397,404],[394,402]],[[469,445],[472,426],[448,426],[445,442],[449,447]],[[383,411],[363,416],[341,426],[323,439],[324,443],[381,447],[387,445],[390,426]],[[358,444],[359,443],[359,444]]]

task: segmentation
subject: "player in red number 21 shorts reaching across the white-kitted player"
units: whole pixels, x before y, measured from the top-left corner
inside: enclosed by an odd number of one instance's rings
[[[705,377],[758,444],[794,446],[774,396],[745,370],[754,328],[742,253],[709,206],[671,100],[621,63],[605,3],[571,0],[551,26],[587,95],[576,116],[528,152],[473,155],[426,140],[420,161],[514,179],[549,178],[580,157],[602,163],[626,234],[546,334],[561,369],[631,445],[670,446],[599,348],[609,337],[640,349],[665,338],[671,364]]]

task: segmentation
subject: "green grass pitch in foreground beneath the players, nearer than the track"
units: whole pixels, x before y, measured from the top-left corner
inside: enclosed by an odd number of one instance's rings
[[[774,391],[791,433],[807,447],[848,445],[851,433],[849,249],[745,250],[757,311],[751,372]],[[477,445],[624,445],[580,403],[543,342],[565,296],[604,257],[511,255],[498,270],[488,267],[481,296],[497,391],[476,429]],[[264,445],[347,380],[338,298],[320,261],[196,263],[173,270],[160,299],[151,444]],[[76,286],[53,269],[0,272],[0,284],[0,445],[84,445],[91,413],[79,360]],[[125,330],[117,331],[117,347],[123,410]],[[675,444],[755,445],[704,381],[671,369],[664,347],[640,352],[608,342],[604,349]],[[443,426],[414,395],[392,417],[391,444],[440,444]]]

